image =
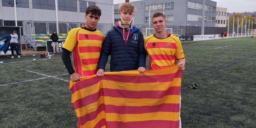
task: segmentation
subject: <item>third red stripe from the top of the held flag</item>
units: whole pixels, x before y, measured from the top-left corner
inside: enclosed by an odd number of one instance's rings
[[[96,111],[78,117],[80,125],[84,125],[87,121],[94,120],[97,115],[105,111],[105,113],[117,114],[142,114],[152,112],[180,112],[180,104],[160,104],[155,106],[115,106],[100,104]]]

